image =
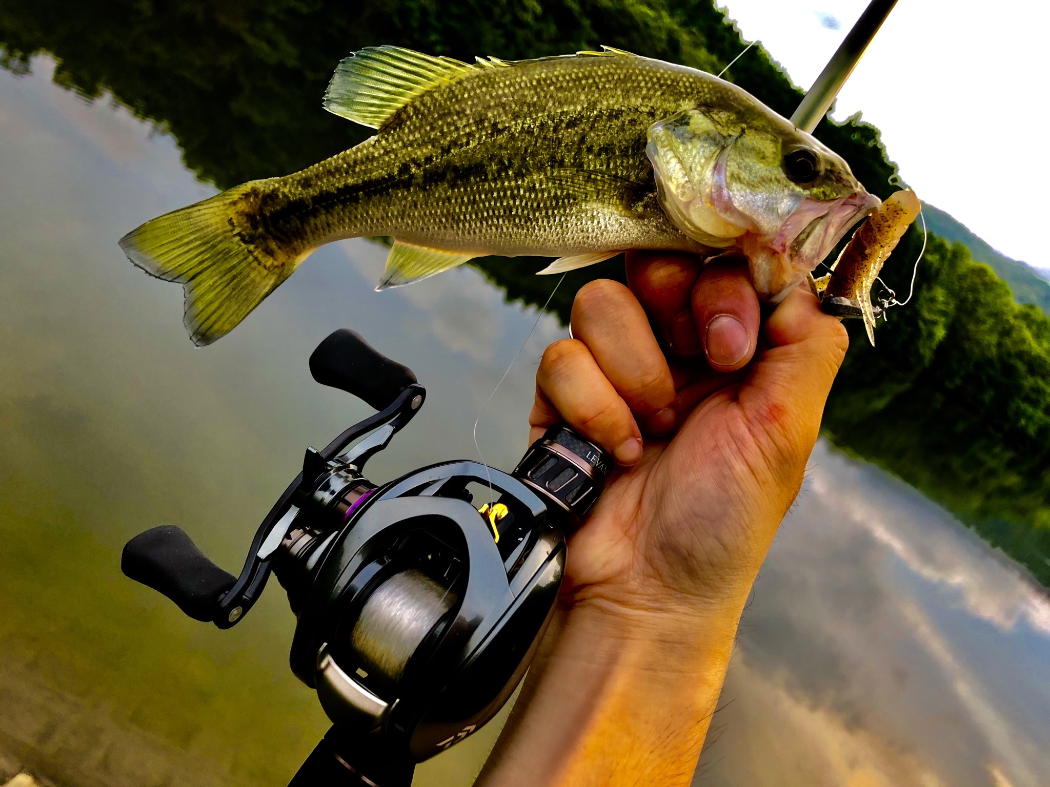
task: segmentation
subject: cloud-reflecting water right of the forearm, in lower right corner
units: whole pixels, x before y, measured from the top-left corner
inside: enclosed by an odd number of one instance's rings
[[[741,625],[708,779],[1045,784],[1048,660],[1034,583],[821,443]]]

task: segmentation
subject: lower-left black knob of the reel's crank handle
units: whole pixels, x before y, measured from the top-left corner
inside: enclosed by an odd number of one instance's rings
[[[174,525],[147,530],[128,541],[121,571],[163,593],[189,617],[206,622],[215,619],[219,599],[236,581]]]

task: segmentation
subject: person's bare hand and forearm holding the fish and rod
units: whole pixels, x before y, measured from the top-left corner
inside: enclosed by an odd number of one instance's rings
[[[566,423],[623,467],[569,539],[560,609],[478,785],[691,783],[845,354],[803,290],[762,322],[742,258],[629,253],[627,279],[580,291],[574,338],[537,374],[530,437]]]

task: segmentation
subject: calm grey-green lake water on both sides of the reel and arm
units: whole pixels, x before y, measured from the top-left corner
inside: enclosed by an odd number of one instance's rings
[[[106,99],[0,71],[0,783],[286,784],[327,728],[288,668],[276,584],[237,628],[125,579],[158,524],[239,567],[322,445],[371,410],[322,388],[314,345],[353,327],[411,366],[426,407],[377,481],[477,455],[470,430],[536,319],[474,269],[374,293],[385,249],[326,247],[240,327],[196,349],[182,292],[117,239],[213,192],[174,141]],[[479,427],[511,467],[544,316]],[[503,717],[501,716],[501,719]],[[417,770],[466,785],[494,722]],[[821,442],[773,545],[698,785],[1050,784],[1050,601],[943,509]]]

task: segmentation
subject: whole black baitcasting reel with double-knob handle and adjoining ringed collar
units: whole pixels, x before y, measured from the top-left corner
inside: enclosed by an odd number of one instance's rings
[[[377,486],[364,465],[425,389],[351,331],[321,342],[310,370],[380,411],[307,449],[240,576],[172,526],[128,541],[121,568],[219,629],[242,620],[276,573],[298,618],[292,671],[333,722],[292,787],[406,787],[415,763],[479,729],[521,680],[558,595],[564,532],[612,463],[555,426],[510,474],[447,462]],[[478,501],[471,485],[483,487]]]

